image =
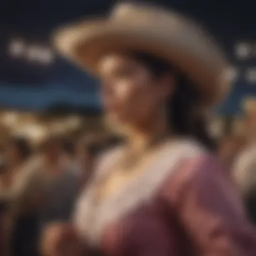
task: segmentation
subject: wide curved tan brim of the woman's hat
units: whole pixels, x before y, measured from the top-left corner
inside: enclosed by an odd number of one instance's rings
[[[111,51],[142,51],[172,63],[191,79],[203,95],[202,104],[221,102],[230,88],[226,75],[228,63],[218,51],[207,44],[188,42],[189,36],[154,30],[141,31],[139,26],[118,24],[108,19],[94,19],[61,28],[54,34],[54,42],[61,55],[82,69],[98,75],[98,61]],[[189,32],[189,31],[188,31]],[[163,36],[168,40],[163,40]],[[209,51],[208,51],[209,50]]]

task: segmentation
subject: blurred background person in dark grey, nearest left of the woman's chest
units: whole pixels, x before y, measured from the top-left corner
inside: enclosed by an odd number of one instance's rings
[[[69,221],[73,212],[81,177],[77,175],[73,160],[67,158],[66,141],[63,136],[51,135],[42,146],[42,162],[38,166],[43,200],[40,212],[42,227],[53,221]]]

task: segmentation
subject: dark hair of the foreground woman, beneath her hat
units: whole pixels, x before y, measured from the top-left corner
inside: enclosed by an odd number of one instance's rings
[[[207,148],[215,149],[215,143],[207,131],[207,123],[203,115],[199,113],[202,96],[193,82],[167,61],[158,57],[134,52],[129,56],[146,65],[154,77],[165,73],[176,75],[177,86],[174,95],[167,102],[170,129],[177,135],[194,137]]]

